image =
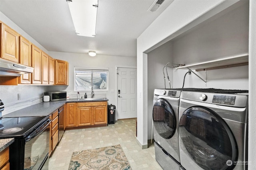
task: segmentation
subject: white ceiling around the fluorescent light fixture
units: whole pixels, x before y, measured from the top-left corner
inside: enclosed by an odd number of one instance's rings
[[[96,37],[76,35],[66,0],[0,0],[0,11],[48,51],[136,57],[136,38],[172,3],[98,0]]]

